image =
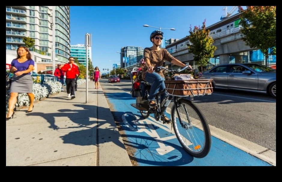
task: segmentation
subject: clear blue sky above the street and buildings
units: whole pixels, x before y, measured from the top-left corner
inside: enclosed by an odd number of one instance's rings
[[[161,27],[166,39],[189,35],[190,25],[206,27],[220,21],[225,6],[71,6],[71,45],[85,44],[92,34],[92,64],[103,68],[120,63],[124,46],[151,47],[150,34]],[[233,6],[227,6],[227,11]],[[243,6],[244,8],[245,6]],[[237,13],[238,9],[233,14]],[[175,28],[175,31],[164,29]],[[180,60],[181,61],[181,60]]]

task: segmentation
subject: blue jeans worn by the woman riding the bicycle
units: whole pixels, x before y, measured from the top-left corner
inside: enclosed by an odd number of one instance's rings
[[[162,91],[163,89],[165,89],[165,82],[164,82],[164,78],[162,76],[160,76],[158,73],[153,72],[153,73],[146,73],[145,76],[145,81],[152,84],[151,89],[150,89],[150,93],[149,93],[149,97],[148,97],[148,101],[150,102],[151,100],[155,100],[155,96],[156,93],[159,91]],[[166,93],[164,92],[161,95],[161,101],[160,103],[162,103],[162,100],[164,100]]]

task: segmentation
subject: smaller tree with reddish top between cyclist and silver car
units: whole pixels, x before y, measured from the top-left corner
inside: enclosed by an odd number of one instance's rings
[[[190,25],[189,42],[187,43],[189,52],[193,53],[194,61],[200,66],[201,71],[203,67],[207,66],[210,58],[214,57],[216,46],[212,46],[214,40],[209,36],[210,31],[206,30],[206,19],[202,27],[195,26],[192,30]]]

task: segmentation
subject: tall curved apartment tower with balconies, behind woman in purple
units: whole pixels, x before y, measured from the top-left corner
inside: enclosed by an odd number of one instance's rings
[[[18,46],[25,45],[23,37],[35,40],[34,47],[29,48],[35,71],[52,68],[53,50],[56,64],[67,63],[70,56],[69,6],[6,6],[6,63],[16,57]]]

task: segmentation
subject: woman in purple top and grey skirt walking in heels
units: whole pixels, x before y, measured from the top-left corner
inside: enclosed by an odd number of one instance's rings
[[[31,71],[34,67],[34,61],[31,59],[31,54],[29,49],[20,46],[17,49],[17,58],[11,63],[10,71],[14,73],[10,88],[10,99],[8,106],[8,115],[6,120],[14,117],[14,107],[17,103],[17,96],[19,93],[27,93],[29,97],[29,109],[26,112],[32,112],[34,94],[32,93],[32,76]]]

